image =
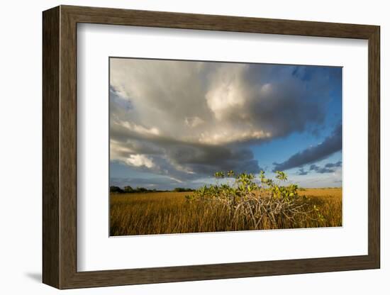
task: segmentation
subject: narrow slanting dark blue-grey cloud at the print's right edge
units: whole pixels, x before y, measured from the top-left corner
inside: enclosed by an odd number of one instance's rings
[[[282,163],[274,163],[274,171],[301,167],[303,165],[323,160],[325,157],[332,155],[334,152],[338,152],[341,148],[342,126],[339,124],[333,130],[333,133],[323,140],[323,143],[314,147],[308,147],[306,150],[302,150],[301,152],[297,152]]]

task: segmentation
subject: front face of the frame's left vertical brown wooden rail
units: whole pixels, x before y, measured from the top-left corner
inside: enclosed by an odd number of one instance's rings
[[[77,23],[60,8],[60,288],[77,269]]]

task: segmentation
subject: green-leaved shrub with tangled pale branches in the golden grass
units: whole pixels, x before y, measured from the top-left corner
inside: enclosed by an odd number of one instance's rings
[[[255,179],[253,174],[236,175],[233,171],[226,174],[216,172],[215,177],[227,177],[228,181],[201,187],[186,199],[213,208],[220,206],[228,211],[232,228],[240,221],[250,223],[250,228],[261,229],[266,224],[267,228],[279,228],[283,220],[296,225],[308,219],[323,218],[319,213],[317,218],[312,217],[318,208],[311,208],[306,197],[299,196],[296,184],[282,185],[282,182],[287,182],[284,172],[276,172],[276,181],[267,179],[263,171],[260,179]]]

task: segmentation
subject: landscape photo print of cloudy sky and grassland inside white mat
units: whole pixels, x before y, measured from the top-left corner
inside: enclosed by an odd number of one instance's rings
[[[342,226],[342,67],[109,58],[110,236]]]

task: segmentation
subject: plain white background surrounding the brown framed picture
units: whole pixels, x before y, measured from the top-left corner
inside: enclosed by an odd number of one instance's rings
[[[390,202],[386,201],[390,169],[390,104],[386,72],[390,71],[389,8],[386,1],[179,1],[85,0],[4,1],[0,11],[0,290],[2,294],[56,294],[41,280],[41,11],[58,4],[110,6],[189,13],[289,18],[307,21],[364,23],[381,26],[381,269],[282,277],[224,279],[143,286],[61,291],[62,294],[388,294],[390,256],[386,255]],[[387,142],[386,142],[387,141]],[[21,191],[21,189],[23,191]],[[338,241],[330,241],[338,243]]]

